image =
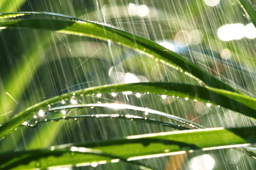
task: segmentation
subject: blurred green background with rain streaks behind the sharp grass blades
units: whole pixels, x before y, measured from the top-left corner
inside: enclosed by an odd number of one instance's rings
[[[256,1],[251,0],[251,3],[254,6]],[[15,11],[54,12],[116,26],[169,48],[255,97],[256,29],[248,26],[251,22],[236,0],[0,1],[1,13]],[[233,25],[222,27],[227,24]],[[131,49],[110,45],[105,41],[49,31],[1,30],[0,68],[0,124],[40,101],[87,87],[144,81],[198,84],[183,73]],[[238,113],[232,113],[231,116],[232,111],[228,109],[208,107],[202,102],[172,96],[162,98],[159,95],[143,94],[138,98],[136,93],[119,93],[116,97],[102,94],[100,98],[85,96],[80,100],[81,103],[121,102],[148,107],[193,120],[205,127],[253,124],[249,118]],[[68,115],[99,113],[143,115],[129,110],[96,107],[74,109]],[[61,116],[57,113],[45,115],[44,118]],[[169,121],[152,115],[146,116]],[[41,123],[35,128],[18,128],[0,141],[0,150],[20,151],[170,130],[173,129],[127,120],[60,120]],[[165,170],[255,169],[256,166],[254,159],[234,149],[196,151],[141,161]],[[67,169],[137,168],[119,162]]]

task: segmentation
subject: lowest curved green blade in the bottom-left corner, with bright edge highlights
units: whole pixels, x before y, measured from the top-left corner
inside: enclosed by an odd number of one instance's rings
[[[75,147],[77,148],[77,147]],[[4,156],[5,155],[5,156]],[[44,150],[31,150],[0,154],[0,169],[53,169],[72,166],[98,166],[106,163],[117,163],[120,160],[139,166],[140,169],[158,170],[156,167],[150,167],[138,161],[127,161],[121,157],[104,154],[99,150],[74,147]]]

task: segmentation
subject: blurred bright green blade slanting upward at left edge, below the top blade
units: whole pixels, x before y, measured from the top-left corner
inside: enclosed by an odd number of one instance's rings
[[[42,63],[44,57],[42,56],[43,47],[49,44],[50,34],[42,34],[40,42],[35,43],[35,46],[28,48],[23,54],[26,56],[26,60],[20,60],[20,66],[4,79],[5,92],[9,92],[15,100],[19,100],[22,93],[28,86],[30,78],[33,77],[36,67]],[[40,56],[40,57],[38,57]],[[17,88],[19,86],[20,88]],[[16,103],[11,97],[7,96],[4,92],[0,93],[0,113],[6,113],[12,111],[15,108]],[[5,117],[0,117],[0,123],[5,121]]]

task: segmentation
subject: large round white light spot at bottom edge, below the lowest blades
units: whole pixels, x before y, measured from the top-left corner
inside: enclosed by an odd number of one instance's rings
[[[208,154],[196,156],[189,162],[191,170],[212,170],[215,165],[215,160]]]

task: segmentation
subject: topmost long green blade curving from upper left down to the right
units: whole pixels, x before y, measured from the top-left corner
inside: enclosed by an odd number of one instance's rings
[[[80,36],[92,37],[100,40],[116,43],[127,48],[136,50],[144,55],[155,58],[156,60],[165,63],[176,70],[184,72],[184,74],[195,78],[199,82],[204,82],[206,85],[220,88],[232,92],[242,93],[234,89],[230,85],[222,82],[218,78],[202,70],[193,63],[183,59],[180,55],[160,46],[159,44],[139,37],[137,35],[127,33],[111,27],[110,25],[101,25],[91,21],[73,18],[70,16],[48,13],[48,12],[20,12],[20,13],[3,13],[1,16],[12,16],[17,14],[34,14],[34,15],[49,15],[62,18],[74,19],[75,21],[66,21],[58,19],[20,19],[0,23],[2,29],[5,28],[25,28],[25,29],[43,29],[57,31],[60,33],[75,34]]]

